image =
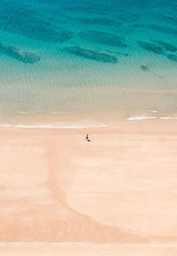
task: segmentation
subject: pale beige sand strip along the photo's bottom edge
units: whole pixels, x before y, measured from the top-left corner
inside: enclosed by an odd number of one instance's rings
[[[177,247],[122,244],[0,244],[0,256],[176,256]]]

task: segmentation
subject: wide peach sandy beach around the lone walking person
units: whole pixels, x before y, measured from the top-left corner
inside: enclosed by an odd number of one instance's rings
[[[177,121],[116,127],[0,128],[0,255],[177,254]]]

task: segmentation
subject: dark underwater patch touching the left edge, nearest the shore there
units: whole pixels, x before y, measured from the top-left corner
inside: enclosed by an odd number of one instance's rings
[[[28,51],[20,52],[16,47],[13,47],[12,45],[4,45],[3,43],[0,43],[0,52],[23,63],[34,64],[41,59],[34,53]]]

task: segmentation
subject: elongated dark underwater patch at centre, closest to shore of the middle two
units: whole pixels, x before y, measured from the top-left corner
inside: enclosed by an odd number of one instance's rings
[[[100,62],[106,62],[106,63],[118,62],[118,58],[116,58],[115,56],[108,55],[105,53],[100,53],[99,51],[96,51],[96,50],[84,49],[78,46],[65,48],[65,51],[75,56],[79,56],[82,58],[89,58],[89,59],[93,59]]]

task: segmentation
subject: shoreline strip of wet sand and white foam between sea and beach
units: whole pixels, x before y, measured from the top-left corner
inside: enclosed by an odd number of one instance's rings
[[[84,128],[118,128],[120,123],[143,122],[148,120],[177,120],[177,113],[162,113],[156,110],[148,112],[116,112],[103,113],[15,113],[0,114],[0,128],[59,128],[59,129],[84,129]]]

